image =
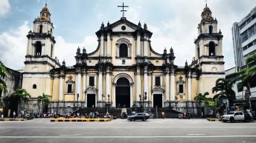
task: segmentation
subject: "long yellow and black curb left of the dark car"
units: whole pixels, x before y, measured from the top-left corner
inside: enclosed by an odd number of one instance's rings
[[[74,118],[74,119],[51,119],[51,122],[109,122],[112,119],[80,119],[80,118]]]

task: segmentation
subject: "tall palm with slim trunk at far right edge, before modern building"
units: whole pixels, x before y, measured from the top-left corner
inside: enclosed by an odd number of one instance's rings
[[[249,91],[249,97],[251,96],[251,86],[256,85],[256,53],[250,55],[246,59],[246,65],[247,67],[243,70],[240,70],[240,72],[237,73],[237,79],[235,81],[241,81],[243,84],[243,87],[246,87]],[[249,98],[250,102],[250,98]],[[249,103],[250,110],[251,104]]]

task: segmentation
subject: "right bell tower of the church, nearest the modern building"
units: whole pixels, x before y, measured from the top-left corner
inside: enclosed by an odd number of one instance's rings
[[[198,36],[195,43],[195,60],[199,65],[199,93],[214,87],[216,79],[225,77],[223,61],[223,35],[217,28],[217,19],[211,16],[211,10],[205,4],[198,24]],[[209,85],[208,83],[211,83]]]

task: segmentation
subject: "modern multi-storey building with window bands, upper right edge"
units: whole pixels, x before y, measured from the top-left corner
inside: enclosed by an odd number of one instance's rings
[[[232,27],[234,63],[239,71],[245,66],[246,57],[256,53],[256,7]]]

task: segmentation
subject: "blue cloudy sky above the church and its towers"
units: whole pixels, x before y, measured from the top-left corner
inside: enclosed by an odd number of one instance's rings
[[[55,56],[65,59],[66,66],[75,64],[77,47],[85,47],[87,53],[96,50],[95,32],[100,24],[110,24],[121,19],[121,8],[127,7],[125,17],[134,24],[147,23],[153,33],[153,50],[163,53],[173,47],[174,64],[179,67],[185,61],[191,63],[197,25],[205,7],[205,0],[48,0],[51,22],[56,38]],[[223,33],[225,70],[234,67],[234,50],[231,27],[243,19],[255,7],[255,0],[208,0],[212,16]],[[13,70],[24,69],[28,31],[39,16],[45,0],[0,0],[0,61]]]

